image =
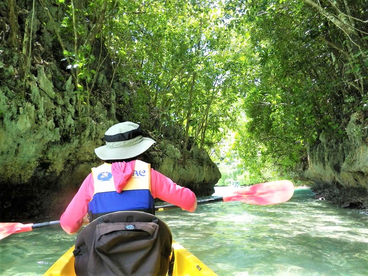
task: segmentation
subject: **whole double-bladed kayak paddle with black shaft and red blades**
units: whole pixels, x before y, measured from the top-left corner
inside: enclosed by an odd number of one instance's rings
[[[200,199],[197,205],[209,204],[213,202],[240,201],[255,205],[272,205],[288,201],[294,194],[294,185],[289,180],[279,180],[259,183],[244,188],[239,188],[231,194],[223,197],[212,197]],[[156,206],[155,211],[180,208],[173,204]],[[28,232],[34,229],[59,226],[60,220],[42,223],[22,224],[20,222],[0,223],[0,240],[14,233]]]

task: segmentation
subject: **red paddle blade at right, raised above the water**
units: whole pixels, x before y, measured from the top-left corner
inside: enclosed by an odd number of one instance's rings
[[[271,205],[288,201],[294,194],[294,184],[289,180],[279,180],[240,188],[223,201],[241,201],[255,205]]]

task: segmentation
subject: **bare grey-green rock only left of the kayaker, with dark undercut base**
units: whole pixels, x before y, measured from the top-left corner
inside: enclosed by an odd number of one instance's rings
[[[43,90],[45,89],[45,90]],[[62,192],[75,190],[96,158],[106,125],[78,124],[74,87],[53,87],[39,67],[26,100],[0,86],[0,217],[28,217],[63,205]],[[106,112],[105,112],[106,113]],[[81,127],[80,127],[81,126]]]

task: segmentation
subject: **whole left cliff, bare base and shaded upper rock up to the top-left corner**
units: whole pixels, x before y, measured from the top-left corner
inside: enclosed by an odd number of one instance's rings
[[[89,2],[78,5],[82,9]],[[91,167],[101,163],[93,149],[104,143],[107,128],[129,120],[130,110],[130,87],[117,81],[117,75],[112,77],[111,59],[97,39],[91,45],[96,57],[91,66],[100,68],[94,88],[91,95],[76,89],[60,44],[74,49],[70,33],[60,27],[67,5],[17,1],[14,8],[19,26],[9,28],[15,23],[9,22],[8,2],[0,1],[0,221],[60,216]],[[27,22],[33,22],[32,32]],[[18,29],[18,37],[32,47],[25,43],[18,49],[16,36],[7,43],[9,29]],[[167,136],[148,153],[147,161],[198,195],[210,195],[221,177],[215,164],[196,147],[184,162],[179,150],[183,147],[176,144],[180,138]]]

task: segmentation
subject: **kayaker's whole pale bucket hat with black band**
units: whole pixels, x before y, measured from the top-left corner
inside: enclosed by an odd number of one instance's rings
[[[155,141],[142,136],[138,124],[118,123],[105,132],[105,146],[95,148],[95,153],[102,160],[128,159],[144,153]]]

